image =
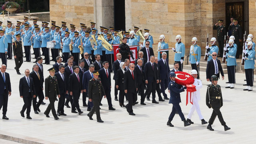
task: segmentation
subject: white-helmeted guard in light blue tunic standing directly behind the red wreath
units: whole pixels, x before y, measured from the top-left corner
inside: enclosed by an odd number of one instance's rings
[[[190,46],[190,52],[189,52],[189,63],[191,64],[192,69],[196,69],[199,78],[199,62],[201,58],[201,47],[196,44],[197,38],[192,38],[192,45]]]

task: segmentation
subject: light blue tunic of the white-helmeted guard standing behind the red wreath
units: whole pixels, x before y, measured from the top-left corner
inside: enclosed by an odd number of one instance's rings
[[[191,45],[189,52],[189,61],[191,64],[195,64],[197,61],[200,62],[201,58],[201,47],[199,45]]]

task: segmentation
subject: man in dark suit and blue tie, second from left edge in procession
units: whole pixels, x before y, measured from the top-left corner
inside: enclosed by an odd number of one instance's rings
[[[31,108],[31,102],[32,102],[32,97],[36,97],[36,89],[35,85],[33,82],[33,79],[29,77],[29,69],[25,70],[25,76],[20,78],[20,85],[19,85],[19,90],[20,90],[20,97],[24,101],[24,105],[22,107],[22,110],[20,111],[20,115],[22,117],[24,116],[24,112],[27,109],[27,119],[32,119],[30,117],[30,108]]]

